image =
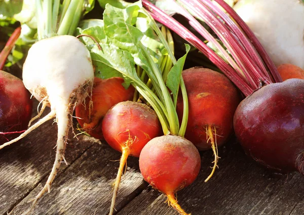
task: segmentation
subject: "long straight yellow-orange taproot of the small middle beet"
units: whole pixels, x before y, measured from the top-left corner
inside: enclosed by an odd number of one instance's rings
[[[118,169],[115,184],[114,184],[115,186],[114,186],[114,190],[113,190],[113,196],[112,196],[112,202],[111,202],[109,215],[112,215],[114,212],[114,209],[115,209],[114,206],[115,206],[116,196],[117,196],[117,192],[118,192],[118,187],[119,187],[119,184],[120,184],[120,181],[122,178],[122,173],[124,170],[124,166],[126,165],[128,156],[129,156],[129,149],[128,149],[128,147],[126,147],[122,151],[122,157],[120,159],[119,169]]]

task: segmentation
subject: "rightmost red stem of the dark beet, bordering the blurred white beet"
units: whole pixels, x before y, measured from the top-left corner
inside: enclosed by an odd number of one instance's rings
[[[223,0],[215,0],[231,17],[238,23],[238,25],[241,27],[241,29],[245,32],[248,39],[251,41],[265,64],[268,66],[271,75],[273,76],[275,82],[282,82],[282,78],[278,72],[278,69],[274,62],[270,59],[269,55],[263,48],[263,46],[260,44],[258,39],[255,37],[252,30],[248,27],[248,25],[241,19],[241,17]]]

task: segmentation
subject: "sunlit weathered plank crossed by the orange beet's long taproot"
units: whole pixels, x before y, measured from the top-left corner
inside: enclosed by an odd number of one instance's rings
[[[32,214],[108,214],[111,184],[116,178],[121,154],[107,144],[94,145],[61,174],[37,204]],[[120,210],[147,187],[138,170],[138,158],[129,158],[128,167],[120,185],[116,209]],[[45,181],[45,180],[44,180]],[[37,186],[12,211],[20,214],[28,201],[42,189]]]

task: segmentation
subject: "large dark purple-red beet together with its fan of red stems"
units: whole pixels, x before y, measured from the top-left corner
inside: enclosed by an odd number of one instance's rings
[[[279,171],[303,172],[304,82],[282,78],[253,32],[223,0],[181,0],[179,12],[216,47],[203,41],[153,4],[143,0],[151,15],[205,54],[246,96],[234,115],[234,129],[245,152],[260,164]],[[183,6],[191,12],[186,11]],[[223,11],[223,10],[225,11]],[[195,19],[202,19],[221,40],[214,40]],[[229,54],[226,50],[229,51]],[[280,67],[281,75],[301,78],[294,66]]]

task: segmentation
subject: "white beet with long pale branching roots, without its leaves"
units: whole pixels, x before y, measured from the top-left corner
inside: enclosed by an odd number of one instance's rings
[[[23,83],[30,93],[39,101],[51,107],[51,112],[27,129],[14,140],[0,146],[16,142],[47,120],[56,117],[58,125],[56,159],[42,191],[36,196],[31,207],[24,213],[29,213],[36,201],[50,187],[62,160],[65,161],[64,151],[72,113],[79,103],[91,94],[94,70],[91,56],[86,46],[77,38],[69,35],[41,40],[28,51],[23,65]],[[41,115],[41,113],[39,113]]]

